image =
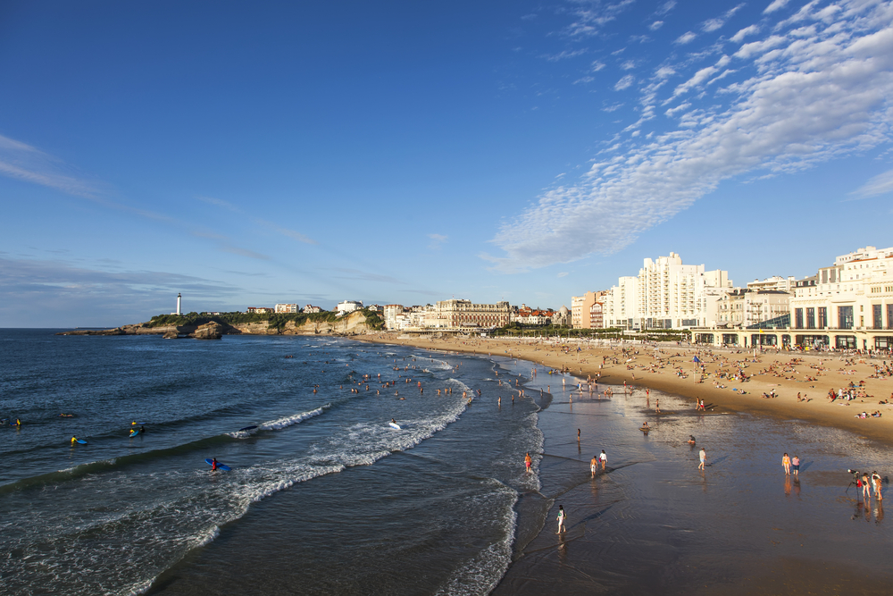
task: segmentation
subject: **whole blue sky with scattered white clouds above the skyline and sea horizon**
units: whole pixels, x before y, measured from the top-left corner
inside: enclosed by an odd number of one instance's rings
[[[0,327],[893,246],[880,0],[0,3]]]

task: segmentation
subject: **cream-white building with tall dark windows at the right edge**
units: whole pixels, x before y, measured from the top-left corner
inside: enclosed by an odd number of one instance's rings
[[[893,348],[893,247],[859,248],[797,281],[790,315],[798,345]]]

